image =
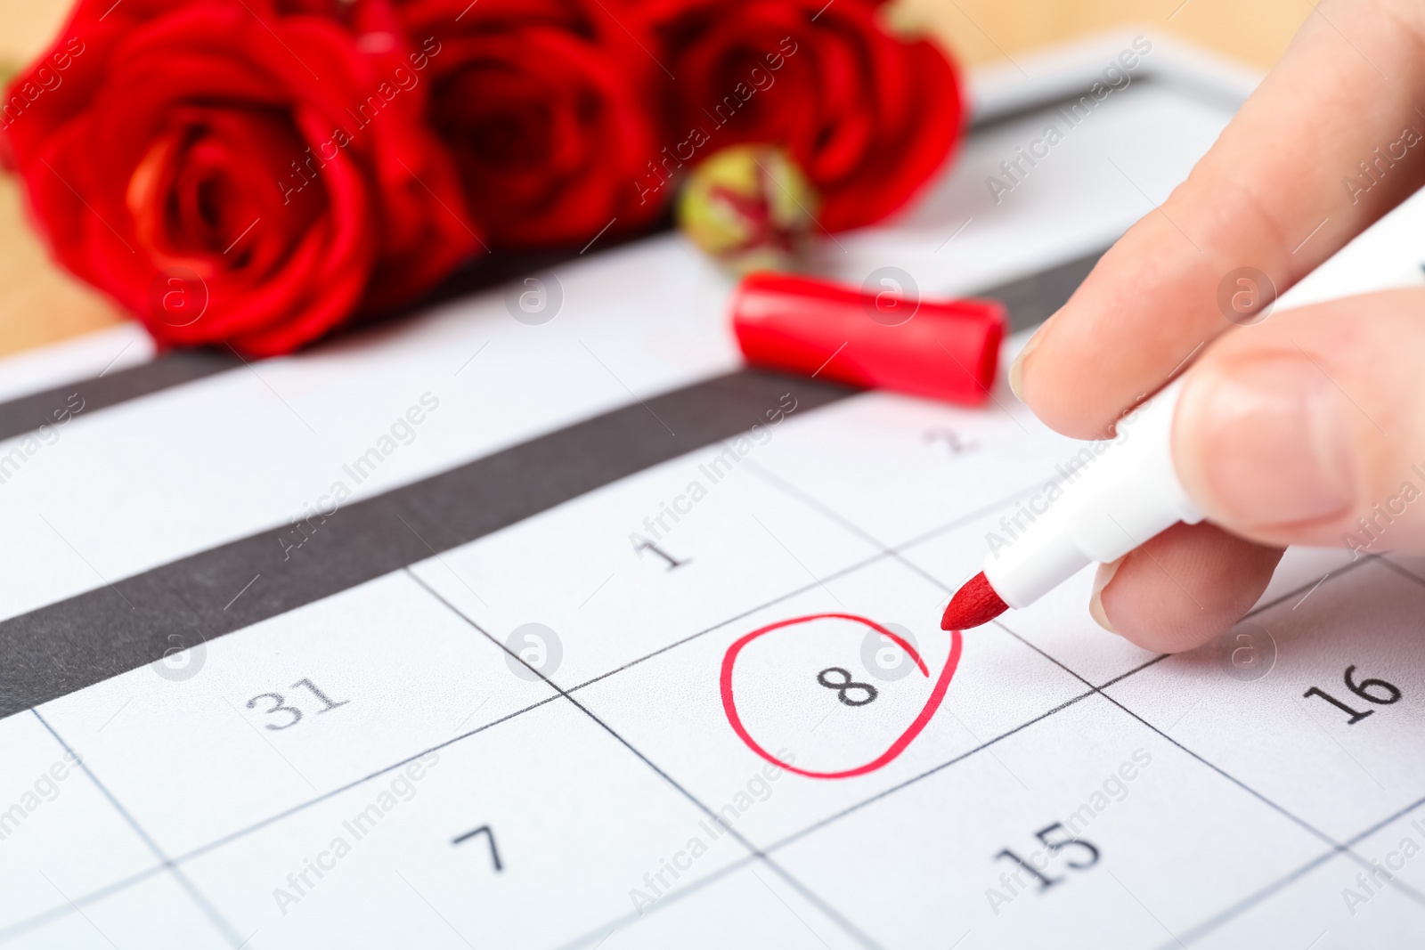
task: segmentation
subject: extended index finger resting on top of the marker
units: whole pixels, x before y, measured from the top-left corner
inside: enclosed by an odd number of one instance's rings
[[[1422,37],[1415,4],[1322,3],[1187,181],[1025,348],[1010,372],[1020,399],[1059,432],[1107,434],[1234,326],[1218,305],[1234,271],[1260,269],[1285,291],[1414,192],[1425,179]]]

